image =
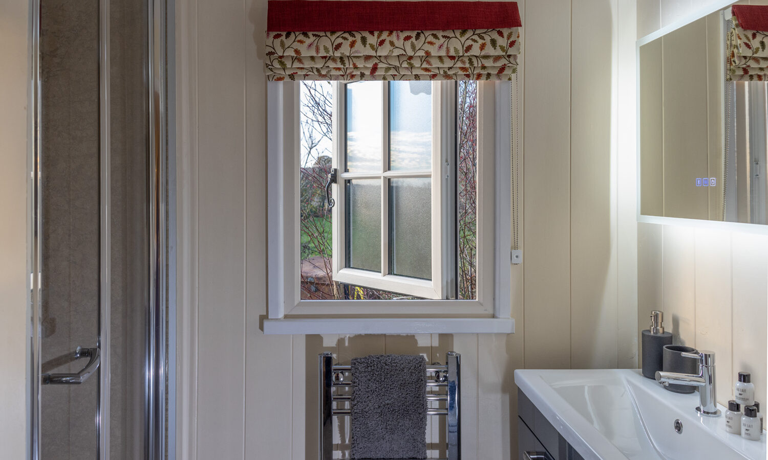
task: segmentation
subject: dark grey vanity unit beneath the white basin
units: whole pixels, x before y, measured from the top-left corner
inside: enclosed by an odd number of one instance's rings
[[[519,460],[583,460],[520,389],[518,417]]]

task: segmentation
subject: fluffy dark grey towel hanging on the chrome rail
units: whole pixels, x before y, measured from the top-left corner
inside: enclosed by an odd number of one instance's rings
[[[351,457],[426,458],[426,384],[422,356],[353,358]]]

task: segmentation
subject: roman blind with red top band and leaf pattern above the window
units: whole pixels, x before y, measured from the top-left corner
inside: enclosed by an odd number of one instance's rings
[[[269,80],[498,80],[517,72],[516,2],[270,0]]]

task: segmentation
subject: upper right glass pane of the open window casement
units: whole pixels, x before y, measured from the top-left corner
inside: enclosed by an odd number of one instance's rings
[[[432,167],[432,83],[389,83],[389,169]]]

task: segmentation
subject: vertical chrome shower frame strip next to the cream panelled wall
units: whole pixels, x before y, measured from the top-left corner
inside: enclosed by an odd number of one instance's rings
[[[147,0],[147,11],[151,267],[145,429],[147,458],[161,459],[175,458],[176,447],[174,0]]]

